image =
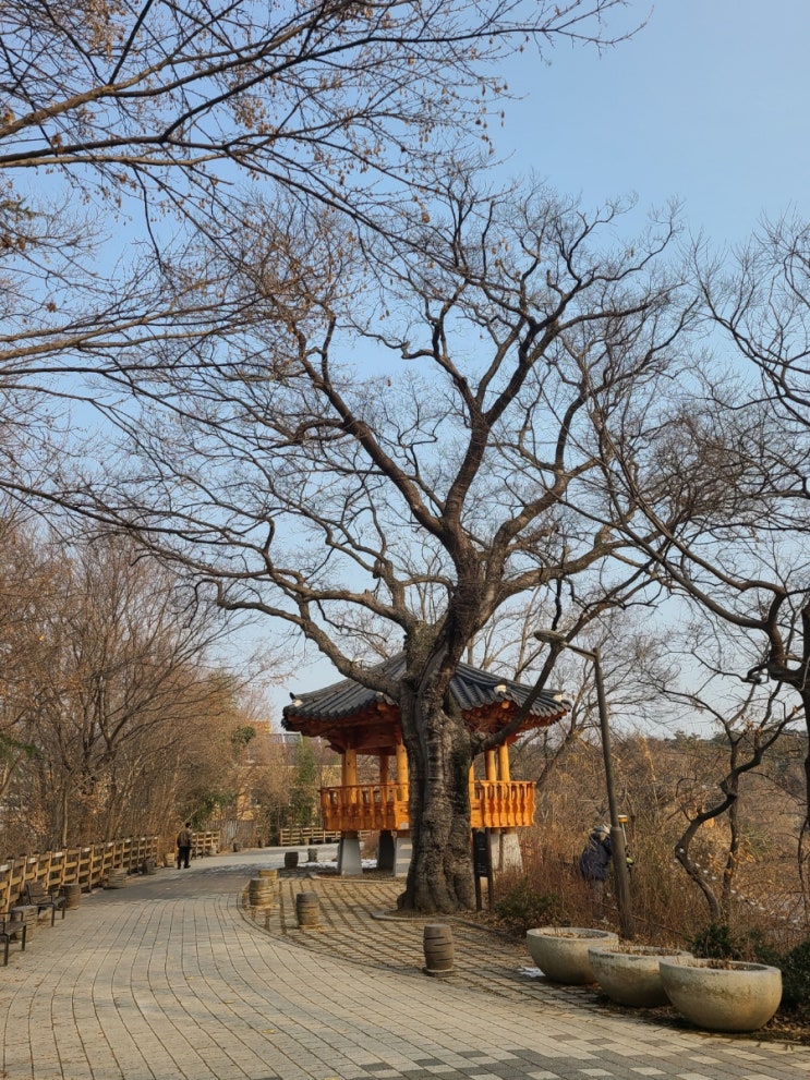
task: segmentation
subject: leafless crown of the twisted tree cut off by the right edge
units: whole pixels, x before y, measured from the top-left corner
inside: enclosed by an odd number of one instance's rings
[[[694,258],[711,359],[673,388],[654,454],[638,425],[605,429],[605,486],[655,580],[693,605],[699,651],[733,642],[737,678],[796,694],[807,725],[807,230],[765,227],[730,265]],[[810,796],[810,756],[805,772]]]

